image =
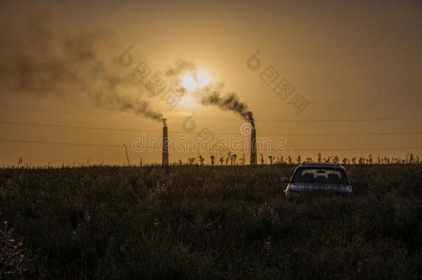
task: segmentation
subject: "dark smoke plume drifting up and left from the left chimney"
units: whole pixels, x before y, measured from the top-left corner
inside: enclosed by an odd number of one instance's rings
[[[163,118],[140,99],[138,81],[122,71],[112,30],[59,30],[46,10],[3,20],[8,28],[2,24],[0,86],[65,100],[86,95],[102,108]],[[110,53],[116,57],[109,58]]]

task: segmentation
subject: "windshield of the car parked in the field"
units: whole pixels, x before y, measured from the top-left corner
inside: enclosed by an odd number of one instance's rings
[[[329,167],[302,167],[296,170],[292,183],[347,185],[345,171]]]

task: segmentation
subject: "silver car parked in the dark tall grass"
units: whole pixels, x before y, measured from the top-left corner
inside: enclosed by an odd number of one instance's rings
[[[304,162],[293,172],[291,178],[284,177],[287,183],[284,194],[297,196],[304,193],[331,192],[351,194],[356,180],[347,178],[345,167],[338,163]]]

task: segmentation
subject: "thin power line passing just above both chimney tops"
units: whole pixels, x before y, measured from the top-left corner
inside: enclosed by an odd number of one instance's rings
[[[148,119],[143,116],[139,115],[122,115],[122,114],[113,114],[113,113],[105,113],[105,112],[94,112],[94,111],[77,111],[77,110],[67,110],[67,109],[48,109],[44,107],[30,107],[30,106],[15,106],[15,105],[8,105],[8,104],[0,104],[1,107],[4,109],[12,109],[12,110],[24,110],[24,111],[42,111],[48,113],[69,113],[69,114],[76,114],[76,115],[109,115],[109,116],[122,116],[122,117],[136,117],[136,118],[144,118]],[[168,118],[168,120],[185,120],[185,118]],[[235,119],[228,119],[228,118],[194,118],[194,120],[206,120],[211,122],[244,122],[241,118],[238,120]],[[392,120],[422,120],[422,117],[414,116],[414,117],[402,117],[402,118],[362,118],[362,119],[303,119],[303,120],[275,120],[275,119],[258,119],[257,122],[380,122],[380,121],[392,121]]]

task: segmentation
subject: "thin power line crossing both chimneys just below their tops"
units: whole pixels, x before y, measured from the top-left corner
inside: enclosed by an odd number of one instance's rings
[[[130,132],[152,132],[152,133],[161,133],[161,130],[146,130],[146,129],[118,129],[118,128],[109,128],[109,127],[81,127],[73,125],[63,125],[63,124],[39,124],[39,123],[30,123],[30,122],[1,122],[0,124],[12,124],[12,125],[23,125],[31,127],[53,127],[53,128],[64,128],[64,129],[89,129],[89,130],[102,130],[102,131],[130,131]],[[181,133],[181,134],[199,134],[201,131],[197,132],[185,132],[185,131],[169,131],[169,133]],[[218,135],[242,135],[242,133],[214,133]],[[422,131],[403,131],[403,132],[380,132],[380,133],[259,133],[262,136],[387,136],[387,135],[414,135],[422,134]]]

